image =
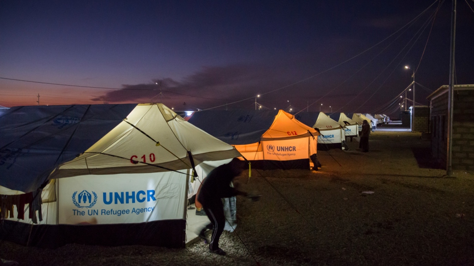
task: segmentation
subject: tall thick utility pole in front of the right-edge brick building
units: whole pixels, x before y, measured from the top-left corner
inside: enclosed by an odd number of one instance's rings
[[[452,175],[452,119],[453,119],[453,77],[454,77],[454,48],[456,44],[456,0],[452,0],[451,12],[451,53],[449,55],[449,92],[448,92],[448,154],[446,158],[446,174]],[[415,93],[415,92],[413,92]]]

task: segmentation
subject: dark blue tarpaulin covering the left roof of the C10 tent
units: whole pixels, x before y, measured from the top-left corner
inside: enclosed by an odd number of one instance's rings
[[[136,104],[12,107],[0,117],[0,185],[38,189],[51,171],[99,141]]]

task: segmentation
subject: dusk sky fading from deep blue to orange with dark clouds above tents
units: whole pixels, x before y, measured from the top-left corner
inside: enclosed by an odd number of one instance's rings
[[[41,105],[250,110],[261,94],[270,109],[393,113],[399,101],[384,104],[410,85],[405,65],[429,90],[448,84],[451,1],[439,5],[0,0],[0,105],[36,105],[39,94]],[[457,1],[457,84],[474,84],[471,8]],[[417,85],[419,104],[428,89]]]

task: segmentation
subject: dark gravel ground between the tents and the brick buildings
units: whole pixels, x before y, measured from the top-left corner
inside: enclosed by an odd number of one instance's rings
[[[370,151],[318,152],[319,171],[253,170],[237,198],[238,227],[219,256],[197,242],[185,249],[86,246],[57,249],[2,242],[20,265],[474,265],[474,175],[433,168],[420,133],[370,136]],[[388,129],[388,130],[384,130]],[[245,183],[245,172],[238,178]],[[371,191],[373,194],[362,192]]]

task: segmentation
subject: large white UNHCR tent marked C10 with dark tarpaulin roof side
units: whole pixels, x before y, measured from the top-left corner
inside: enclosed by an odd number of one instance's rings
[[[162,104],[14,107],[0,124],[0,238],[35,246],[184,247],[193,169],[240,156]]]

